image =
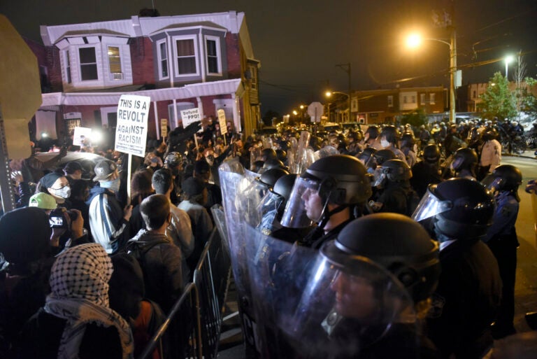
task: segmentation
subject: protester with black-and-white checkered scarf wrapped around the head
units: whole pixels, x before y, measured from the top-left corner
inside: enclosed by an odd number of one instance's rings
[[[110,258],[99,244],[64,251],[50,273],[52,292],[22,332],[21,358],[133,358],[126,321],[109,307]]]

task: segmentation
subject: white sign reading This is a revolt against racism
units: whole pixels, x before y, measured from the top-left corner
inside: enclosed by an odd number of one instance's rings
[[[121,95],[120,103],[117,104],[115,150],[145,156],[150,101],[148,96]]]

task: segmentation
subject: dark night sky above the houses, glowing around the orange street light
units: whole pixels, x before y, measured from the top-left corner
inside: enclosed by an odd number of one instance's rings
[[[449,48],[428,41],[419,51],[403,36],[421,29],[448,39],[433,26],[431,11],[454,8],[457,63],[462,82],[487,82],[505,72],[503,56],[522,51],[527,75],[537,77],[536,0],[155,0],[161,15],[243,11],[259,71],[262,113],[290,113],[321,101],[324,90],[447,85]],[[39,25],[127,19],[150,0],[0,0],[0,13],[23,36],[39,41]],[[515,64],[509,68],[510,78]]]

